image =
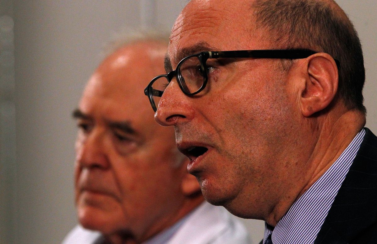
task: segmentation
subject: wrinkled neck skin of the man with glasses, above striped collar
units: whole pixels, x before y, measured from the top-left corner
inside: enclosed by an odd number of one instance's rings
[[[293,203],[307,191],[339,158],[349,143],[365,125],[365,114],[356,110],[337,109],[318,117],[306,118],[313,133],[311,154],[306,164],[306,178],[294,192],[296,198],[280,199],[265,221],[271,226],[284,217]]]

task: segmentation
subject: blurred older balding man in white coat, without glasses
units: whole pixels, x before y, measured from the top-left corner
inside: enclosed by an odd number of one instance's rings
[[[173,129],[148,116],[142,90],[163,72],[167,40],[141,36],[104,59],[74,111],[82,227],[63,243],[250,243],[234,216],[204,201]]]

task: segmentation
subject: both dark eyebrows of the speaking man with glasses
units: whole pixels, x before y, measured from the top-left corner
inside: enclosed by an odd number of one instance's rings
[[[212,47],[207,42],[201,41],[199,43],[196,43],[193,46],[182,48],[178,52],[178,55],[175,57],[175,61],[178,64],[179,61],[181,61],[187,56],[193,55],[198,52],[206,52],[206,51],[214,51],[214,50],[217,50],[217,49],[215,47]],[[167,73],[173,70],[171,59],[168,54],[166,54],[165,56],[164,65],[165,65],[165,70]]]

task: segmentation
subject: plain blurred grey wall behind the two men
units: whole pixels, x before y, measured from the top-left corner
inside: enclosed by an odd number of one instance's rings
[[[187,0],[0,0],[0,243],[60,243],[77,224],[76,126],[84,85],[116,33],[169,32]],[[366,126],[377,132],[377,1],[337,0],[363,44]],[[264,224],[244,220],[253,243]]]

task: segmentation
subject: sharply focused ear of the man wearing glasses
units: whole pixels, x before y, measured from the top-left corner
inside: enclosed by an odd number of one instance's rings
[[[305,59],[300,75],[305,82],[299,90],[302,115],[309,117],[333,101],[338,89],[338,69],[334,59],[327,53],[316,53]]]

